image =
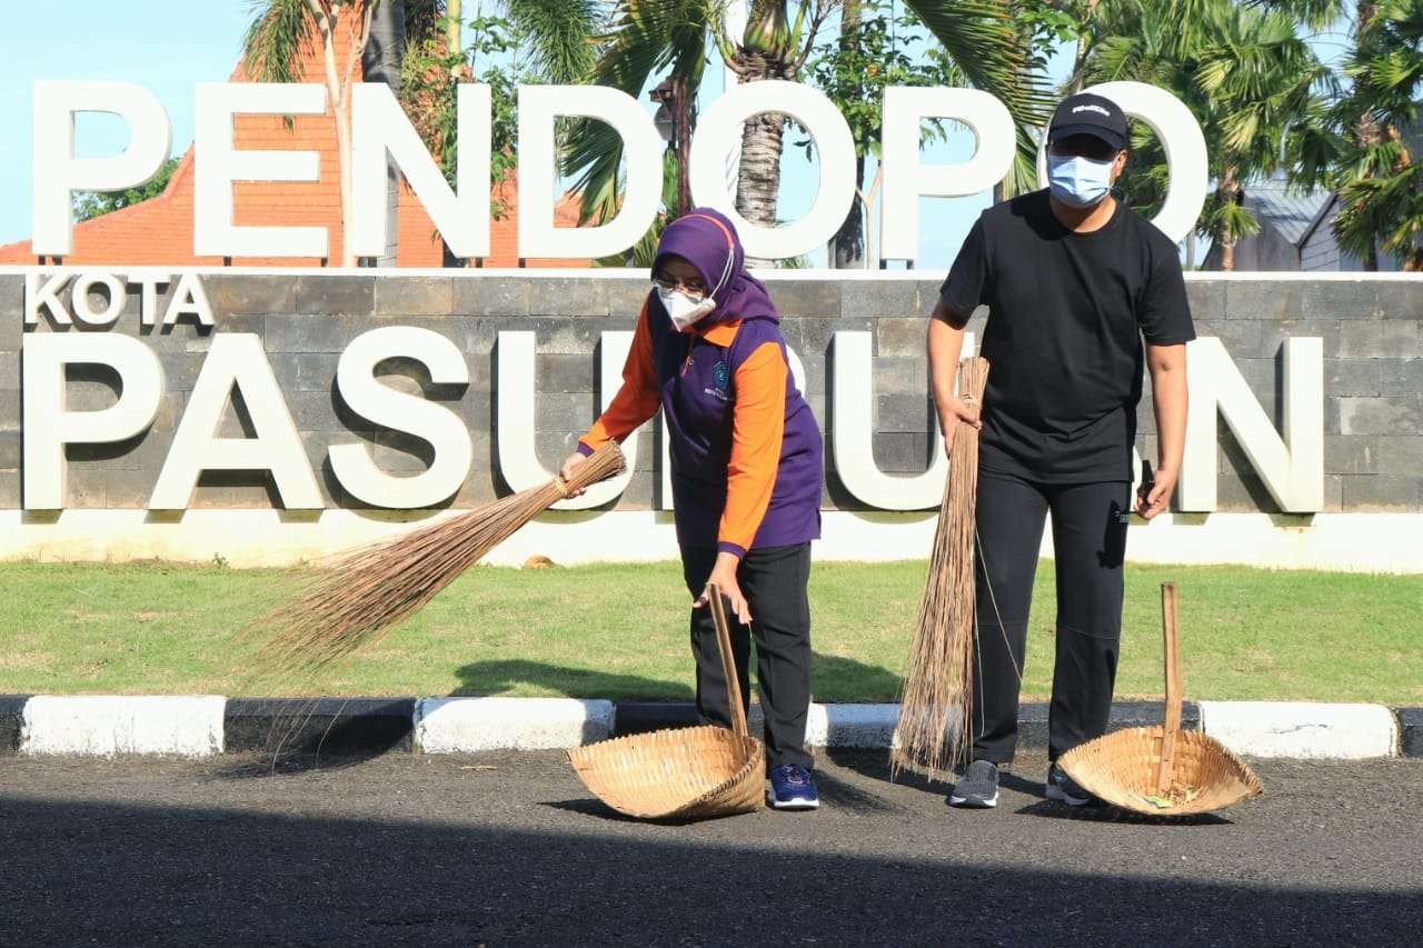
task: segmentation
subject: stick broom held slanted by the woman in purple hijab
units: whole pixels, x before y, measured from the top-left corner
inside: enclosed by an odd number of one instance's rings
[[[258,660],[277,672],[314,672],[380,639],[455,576],[555,502],[620,474],[622,451],[609,441],[573,468],[568,483],[477,507],[394,539],[336,554],[305,588],[253,621],[243,638],[263,639]]]

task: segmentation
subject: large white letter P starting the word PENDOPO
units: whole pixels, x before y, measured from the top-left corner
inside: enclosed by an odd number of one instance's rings
[[[74,115],[110,112],[128,125],[129,145],[107,158],[74,157]],[[172,151],[172,125],[158,97],[132,83],[38,80],[34,84],[34,253],[73,249],[75,191],[122,191],[147,184]]]

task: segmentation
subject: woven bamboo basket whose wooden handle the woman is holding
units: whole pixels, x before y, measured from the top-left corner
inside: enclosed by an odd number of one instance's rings
[[[716,586],[710,594],[731,696],[731,730],[682,727],[569,750],[568,760],[583,786],[619,813],[643,820],[704,820],[764,806],[766,749],[747,733],[726,608]]]

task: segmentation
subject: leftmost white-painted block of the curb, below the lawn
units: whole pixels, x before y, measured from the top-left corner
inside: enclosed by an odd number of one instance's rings
[[[24,705],[20,753],[211,757],[222,753],[226,703],[218,695],[36,695]]]

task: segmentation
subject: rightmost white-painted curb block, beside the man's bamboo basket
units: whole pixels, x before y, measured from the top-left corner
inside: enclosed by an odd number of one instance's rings
[[[1399,725],[1382,705],[1200,702],[1201,729],[1238,754],[1305,760],[1392,757]]]

